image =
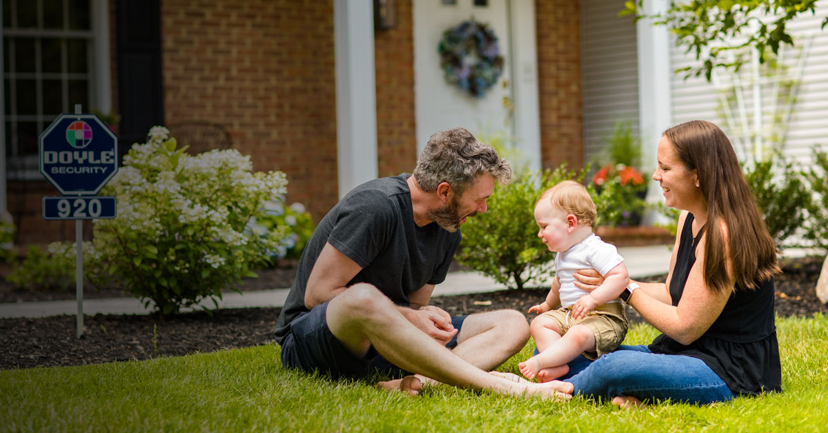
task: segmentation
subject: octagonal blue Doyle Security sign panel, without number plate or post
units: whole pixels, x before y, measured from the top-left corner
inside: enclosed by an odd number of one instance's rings
[[[60,114],[38,149],[41,174],[62,195],[98,194],[118,171],[118,137],[94,114]]]

